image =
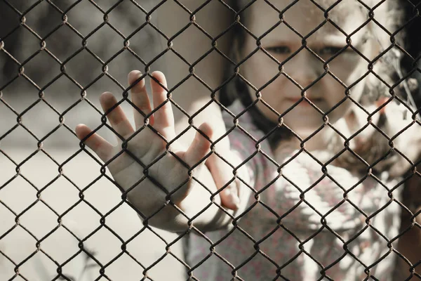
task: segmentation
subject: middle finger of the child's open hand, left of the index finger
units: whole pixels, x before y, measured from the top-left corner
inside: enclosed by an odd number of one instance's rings
[[[142,77],[142,73],[139,70],[133,70],[128,74],[128,84],[132,85],[140,77]],[[151,103],[149,101],[149,97],[147,96],[145,79],[138,81],[138,83],[131,88],[130,92],[134,105],[136,105],[136,107],[138,107],[138,109],[141,110],[145,115],[151,113]],[[138,112],[136,108],[133,108],[133,115],[135,117],[136,129],[139,129],[142,126],[144,126],[145,117],[143,117],[143,115],[140,114],[140,112]],[[151,124],[152,126],[154,125],[153,115],[149,117],[149,124]]]

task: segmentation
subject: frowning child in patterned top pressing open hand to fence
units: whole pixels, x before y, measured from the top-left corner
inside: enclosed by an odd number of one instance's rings
[[[399,18],[392,3],[374,9],[388,30]],[[391,280],[399,176],[410,166],[399,152],[418,156],[420,128],[388,92],[390,67],[377,55],[390,36],[357,1],[288,5],[256,1],[241,18],[255,38],[243,31],[233,43],[237,58],[247,58],[224,112],[232,155],[222,156],[235,168],[236,210],[218,207],[218,170],[203,165],[208,138],[215,141],[210,126],[201,124],[188,148],[178,145],[161,72],[152,74],[154,111],[142,74],[129,74],[136,131],[116,98],[102,94],[119,145],[84,125],[76,134],[149,225],[185,232],[193,224],[194,279]],[[286,11],[272,29],[274,8]]]

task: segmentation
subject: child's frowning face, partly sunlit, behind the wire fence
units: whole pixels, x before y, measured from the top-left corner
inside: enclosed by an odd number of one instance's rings
[[[343,4],[339,4],[330,11],[330,19],[347,34],[354,32],[366,20],[366,13],[363,13],[363,10],[356,5],[350,4],[353,1],[342,1]],[[276,5],[279,10],[282,10],[287,3],[286,1],[278,1]],[[328,7],[330,4],[325,4],[324,6]],[[279,14],[264,1],[255,2],[250,9],[246,27],[257,37],[262,36],[279,20]],[[312,32],[314,28],[325,20],[323,11],[319,10],[308,0],[298,1],[297,4],[284,13],[284,19],[288,25],[292,26],[303,37],[307,36],[309,32]],[[374,44],[367,40],[368,27],[363,27],[359,32],[353,34],[351,39],[352,46],[363,53],[363,55],[366,55],[368,59],[373,59],[375,54],[373,50]],[[307,46],[323,60],[333,57],[346,44],[346,35],[329,22],[307,39]],[[281,23],[281,25],[262,38],[262,47],[279,62],[282,62],[302,47],[302,38],[290,30],[286,24]],[[247,35],[245,46],[243,46],[243,57],[255,51],[256,48],[255,39]],[[347,86],[352,85],[354,81],[362,77],[368,70],[367,61],[361,58],[352,48],[347,48],[347,51],[338,55],[328,65],[329,70],[337,79]],[[246,79],[258,89],[279,73],[278,64],[263,51],[258,51],[252,55],[240,67],[240,70]],[[302,49],[291,58],[284,65],[284,70],[291,79],[303,88],[312,84],[325,72],[321,60],[307,49]],[[307,98],[312,100],[320,110],[327,112],[345,98],[345,86],[341,85],[340,81],[337,81],[332,75],[326,74],[316,84],[307,89]],[[359,100],[363,91],[363,84],[364,80],[352,87],[350,93],[355,100]],[[301,98],[301,92],[298,86],[282,74],[261,91],[262,99],[280,114],[288,110]],[[253,90],[250,91],[250,94],[252,98],[255,98]],[[347,100],[346,103],[330,112],[328,115],[329,121],[333,123],[343,117],[350,105],[350,100]],[[276,122],[278,116],[271,112],[263,103],[258,103],[258,107],[266,117]],[[283,117],[283,120],[287,126],[290,126],[291,129],[302,136],[308,136],[309,133],[314,132],[323,123],[322,115],[305,100],[288,112]]]

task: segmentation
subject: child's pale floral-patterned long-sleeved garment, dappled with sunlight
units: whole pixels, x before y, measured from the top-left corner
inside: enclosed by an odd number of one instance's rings
[[[239,102],[233,112],[241,112]],[[232,117],[225,115],[227,128]],[[263,133],[246,112],[239,125]],[[220,280],[391,280],[399,230],[401,189],[387,173],[367,176],[321,165],[289,151],[278,171],[267,141],[236,128],[229,140],[250,177],[248,206],[236,227],[190,235],[187,261],[194,277]],[[277,158],[279,159],[279,158]],[[279,163],[281,164],[281,163]],[[395,188],[397,187],[397,188]],[[395,189],[393,189],[395,188]],[[389,190],[392,192],[389,192]]]

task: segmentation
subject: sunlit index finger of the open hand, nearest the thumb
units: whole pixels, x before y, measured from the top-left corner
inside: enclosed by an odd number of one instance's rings
[[[167,88],[166,79],[162,72],[155,71],[152,73],[152,77],[156,78],[165,88]],[[167,100],[168,91],[156,83],[154,79],[151,79],[151,88],[154,107],[159,107],[159,105],[165,103],[154,113],[154,128],[162,133],[165,138],[171,139],[175,136],[174,115],[171,102]]]

